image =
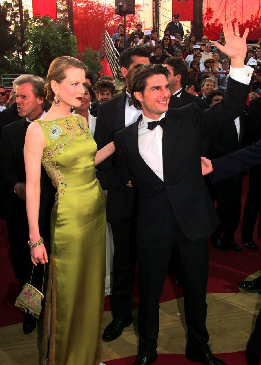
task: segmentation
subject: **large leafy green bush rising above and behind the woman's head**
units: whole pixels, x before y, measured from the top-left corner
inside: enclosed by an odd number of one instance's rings
[[[25,35],[28,53],[25,70],[46,77],[51,61],[60,56],[77,55],[77,40],[68,27],[56,24],[50,16],[37,16],[28,23]]]

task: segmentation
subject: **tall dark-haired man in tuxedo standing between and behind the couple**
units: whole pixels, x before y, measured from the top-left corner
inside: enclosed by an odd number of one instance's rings
[[[150,53],[143,47],[125,50],[119,58],[120,68],[126,80],[126,92],[99,106],[94,139],[98,149],[114,140],[114,133],[134,123],[141,111],[134,107],[130,95],[130,79],[142,64],[149,64]],[[180,106],[173,97],[173,107]],[[114,154],[100,165],[98,170],[115,164]],[[136,199],[135,199],[136,197]],[[108,191],[107,221],[111,223],[114,240],[112,264],[112,315],[113,321],[105,328],[104,341],[119,337],[124,327],[132,323],[133,277],[136,264],[135,231],[137,216],[137,188],[127,186]]]

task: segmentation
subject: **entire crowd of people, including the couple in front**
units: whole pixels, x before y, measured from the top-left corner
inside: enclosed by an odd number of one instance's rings
[[[112,41],[123,47],[119,64],[126,88],[118,96],[112,77],[93,85],[86,66],[69,56],[54,59],[46,82],[34,75],[16,78],[8,108],[0,85],[1,188],[15,274],[24,284],[35,265],[39,287],[43,266],[49,266],[41,365],[100,364],[101,339],[114,341],[133,322],[137,259],[139,347],[133,365],[153,364],[160,295],[173,252],[184,293],[186,357],[226,365],[208,345],[207,237],[218,250],[242,251],[234,233],[242,171],[249,166],[219,181],[215,163],[212,168],[203,159],[203,173],[213,169],[204,180],[200,156],[222,157],[261,138],[258,88],[246,115],[251,78],[259,82],[261,52],[257,47],[246,61],[248,30],[241,38],[238,24],[233,30],[230,21],[213,42],[213,55],[206,36],[201,46],[194,35],[182,43],[178,14],[167,28],[159,44],[156,31],[143,33],[137,24],[128,37],[119,24]],[[124,49],[124,43],[130,46]],[[216,70],[219,60],[222,69]],[[201,81],[200,65],[206,73]],[[261,173],[260,166],[252,166],[242,242],[256,251]],[[101,334],[109,229],[113,319]],[[257,280],[248,290],[261,291],[260,285]],[[36,320],[24,315],[28,334]],[[259,362],[260,325],[259,316],[247,345],[249,365]]]

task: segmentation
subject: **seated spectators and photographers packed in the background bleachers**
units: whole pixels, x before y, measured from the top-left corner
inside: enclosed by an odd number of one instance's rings
[[[119,32],[112,35],[111,39],[120,54],[124,50],[123,24],[119,24],[118,30]],[[122,38],[119,39],[118,35]],[[226,45],[223,31],[219,33],[219,37],[217,42]],[[125,49],[136,46],[148,49],[151,55],[151,64],[163,64],[167,57],[183,58],[191,76],[196,79],[200,87],[205,78],[212,77],[216,80],[215,89],[222,92],[226,91],[230,58],[217,47],[211,47],[212,43],[208,41],[206,35],[203,35],[200,42],[197,42],[194,34],[186,37],[183,26],[179,22],[179,14],[173,14],[172,22],[165,28],[162,39],[160,39],[157,30],[145,30],[143,32],[141,23],[136,24],[135,31],[129,37],[125,34],[125,38]],[[255,50],[253,46],[247,46],[245,65],[254,68],[253,90],[257,89],[257,92],[261,92],[260,42],[257,43]]]

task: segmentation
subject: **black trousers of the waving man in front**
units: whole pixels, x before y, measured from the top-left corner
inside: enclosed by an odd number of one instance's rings
[[[149,356],[157,348],[159,331],[159,303],[172,249],[177,255],[178,269],[183,285],[185,319],[188,328],[189,349],[205,351],[208,342],[207,278],[208,242],[207,237],[189,241],[181,233],[172,214],[169,245],[150,249],[138,247],[139,284],[139,353]],[[160,237],[159,237],[160,240]]]

